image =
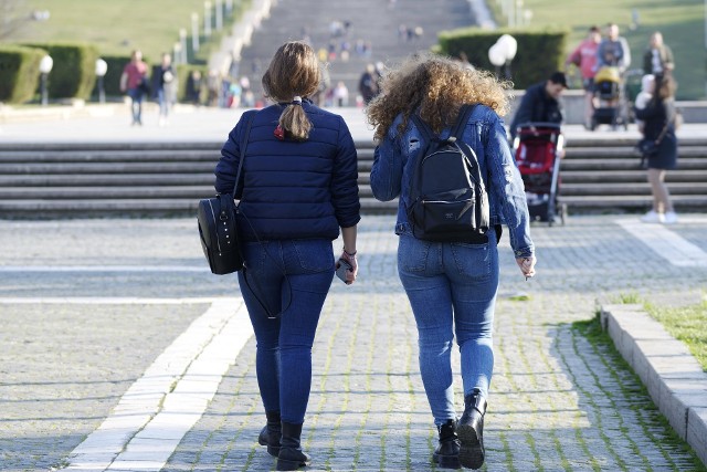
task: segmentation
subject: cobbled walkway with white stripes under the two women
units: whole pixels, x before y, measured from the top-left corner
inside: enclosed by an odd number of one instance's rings
[[[707,253],[707,217],[682,217],[644,233]],[[623,363],[582,334],[597,298],[697,303],[707,289],[707,263],[667,260],[626,229],[633,219],[535,227],[528,282],[504,237],[485,470],[700,470]],[[363,218],[360,280],[335,281],[325,305],[310,470],[433,469],[392,227]],[[116,444],[110,470],[274,466],[256,443],[264,416],[238,285],[205,270],[193,220],[0,221],[0,470],[103,470]],[[82,449],[86,437],[98,440]]]

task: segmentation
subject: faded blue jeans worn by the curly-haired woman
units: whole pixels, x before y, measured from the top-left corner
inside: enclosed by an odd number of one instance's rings
[[[498,290],[496,234],[488,243],[440,243],[401,234],[398,273],[418,324],[420,374],[434,422],[456,418],[452,378],[454,334],[464,396],[488,398],[494,369],[493,325]]]

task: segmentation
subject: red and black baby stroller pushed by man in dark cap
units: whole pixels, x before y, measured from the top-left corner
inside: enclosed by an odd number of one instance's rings
[[[525,123],[518,126],[514,140],[516,164],[526,188],[530,220],[562,224],[567,204],[558,201],[560,189],[560,156],[564,136],[555,123]]]

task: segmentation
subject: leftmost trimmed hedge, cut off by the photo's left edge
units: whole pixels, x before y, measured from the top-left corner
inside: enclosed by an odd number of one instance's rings
[[[42,50],[0,45],[0,102],[20,104],[34,97]]]

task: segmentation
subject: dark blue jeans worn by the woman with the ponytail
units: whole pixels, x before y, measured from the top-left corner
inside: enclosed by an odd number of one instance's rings
[[[329,240],[246,243],[239,272],[255,340],[255,370],[265,411],[305,420],[312,387],[312,345],[334,279]],[[268,318],[272,314],[282,315]]]

